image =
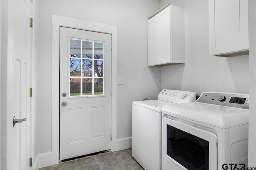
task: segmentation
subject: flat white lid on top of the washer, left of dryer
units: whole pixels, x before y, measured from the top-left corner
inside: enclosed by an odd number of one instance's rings
[[[162,100],[143,100],[143,101],[137,101],[132,102],[132,104],[145,107],[147,109],[151,109],[153,111],[157,111],[159,113],[162,112],[162,108],[166,105],[173,104],[171,102],[165,102]]]

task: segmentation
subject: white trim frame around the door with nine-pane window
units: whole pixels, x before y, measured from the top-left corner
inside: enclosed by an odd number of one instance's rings
[[[78,20],[63,16],[52,15],[52,164],[59,163],[59,56],[60,56],[60,26],[87,31],[96,31],[111,34],[111,151],[116,151],[117,136],[117,27],[92,21]],[[110,90],[110,89],[109,89]]]

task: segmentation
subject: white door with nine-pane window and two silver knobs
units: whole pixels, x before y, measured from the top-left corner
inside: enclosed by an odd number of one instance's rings
[[[111,149],[111,35],[60,27],[60,160]]]

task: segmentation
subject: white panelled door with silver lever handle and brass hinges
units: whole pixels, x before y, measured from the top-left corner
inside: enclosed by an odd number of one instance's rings
[[[4,29],[3,61],[6,62],[6,140],[4,169],[30,168],[30,4],[29,0],[5,1],[6,27]],[[4,97],[5,98],[5,97]],[[13,127],[16,119],[26,118]],[[5,125],[5,123],[4,123]],[[4,127],[5,128],[5,127]],[[5,131],[5,129],[4,129]]]

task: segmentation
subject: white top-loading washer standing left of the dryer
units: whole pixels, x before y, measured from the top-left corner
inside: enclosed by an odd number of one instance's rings
[[[195,100],[195,92],[164,89],[157,100],[132,102],[132,156],[145,170],[161,169],[162,107]]]

